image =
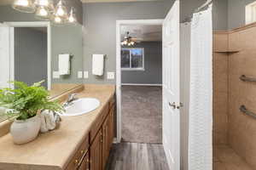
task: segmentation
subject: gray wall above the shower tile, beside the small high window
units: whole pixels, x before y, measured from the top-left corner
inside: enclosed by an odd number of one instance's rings
[[[229,0],[228,27],[230,30],[245,26],[245,7],[255,0]]]

